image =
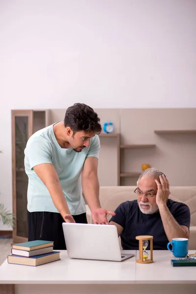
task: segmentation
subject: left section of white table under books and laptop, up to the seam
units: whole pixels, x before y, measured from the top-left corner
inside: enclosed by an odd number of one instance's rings
[[[136,254],[135,250],[123,251]],[[8,264],[0,267],[0,284],[114,284],[135,281],[136,256],[122,262],[70,259],[61,250],[61,260],[38,267]]]

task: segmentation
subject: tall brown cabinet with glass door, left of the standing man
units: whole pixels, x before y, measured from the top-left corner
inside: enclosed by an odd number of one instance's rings
[[[12,201],[16,226],[13,242],[27,241],[27,187],[24,150],[28,138],[46,126],[46,113],[39,110],[12,110]]]

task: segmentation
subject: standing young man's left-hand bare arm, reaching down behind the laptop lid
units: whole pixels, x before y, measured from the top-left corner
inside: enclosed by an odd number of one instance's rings
[[[41,181],[46,185],[54,206],[60,212],[64,221],[75,222],[73,216],[70,213],[65,195],[61,188],[58,174],[54,166],[50,163],[42,163],[34,166],[33,170],[41,179]]]

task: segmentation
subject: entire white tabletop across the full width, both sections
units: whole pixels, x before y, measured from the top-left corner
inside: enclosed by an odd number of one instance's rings
[[[39,267],[8,264],[5,260],[0,266],[0,284],[196,283],[196,267],[173,268],[174,257],[168,250],[154,250],[154,263],[145,265],[136,263],[136,256],[122,262],[70,259],[66,250],[61,251],[60,258]]]

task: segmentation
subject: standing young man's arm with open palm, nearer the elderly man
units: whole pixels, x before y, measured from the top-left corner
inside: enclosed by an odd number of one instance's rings
[[[115,215],[114,212],[103,209],[99,202],[98,158],[87,157],[82,172],[82,189],[91,210],[93,222],[108,224],[106,215]]]

